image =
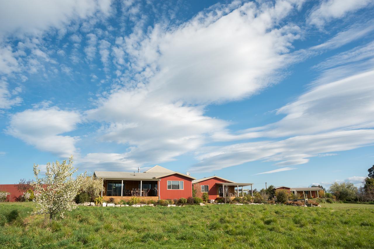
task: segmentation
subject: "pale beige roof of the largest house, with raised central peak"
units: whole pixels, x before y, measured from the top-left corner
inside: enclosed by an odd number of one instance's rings
[[[104,179],[128,179],[128,180],[155,180],[160,179],[162,177],[166,177],[168,175],[178,174],[184,177],[188,177],[190,179],[196,179],[189,175],[182,174],[180,172],[172,171],[170,169],[166,169],[159,165],[156,165],[143,173],[138,172],[121,172],[121,171],[94,171],[93,175],[97,178],[104,178]]]

